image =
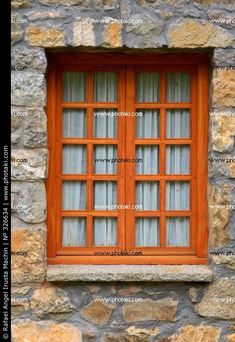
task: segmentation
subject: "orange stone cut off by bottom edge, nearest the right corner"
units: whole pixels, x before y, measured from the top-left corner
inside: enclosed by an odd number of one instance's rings
[[[186,325],[173,336],[169,337],[171,342],[219,342],[221,329],[206,325]]]

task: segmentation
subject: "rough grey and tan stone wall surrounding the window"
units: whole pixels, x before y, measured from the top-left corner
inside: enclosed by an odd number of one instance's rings
[[[233,2],[11,1],[13,342],[235,341]],[[211,283],[46,281],[45,52],[54,48],[210,54]]]

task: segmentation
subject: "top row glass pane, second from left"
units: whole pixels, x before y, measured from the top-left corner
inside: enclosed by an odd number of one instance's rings
[[[117,75],[115,72],[94,72],[94,101],[117,101]]]

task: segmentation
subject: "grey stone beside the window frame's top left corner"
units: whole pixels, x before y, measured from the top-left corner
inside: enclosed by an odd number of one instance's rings
[[[11,65],[15,70],[33,70],[44,73],[47,59],[44,49],[14,46],[11,50]]]

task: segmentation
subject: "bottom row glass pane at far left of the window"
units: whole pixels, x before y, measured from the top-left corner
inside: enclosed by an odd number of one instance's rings
[[[86,219],[84,217],[63,218],[63,246],[86,245]]]

